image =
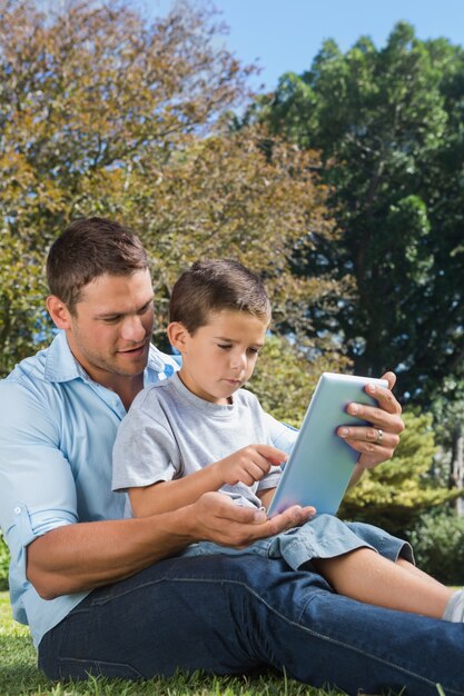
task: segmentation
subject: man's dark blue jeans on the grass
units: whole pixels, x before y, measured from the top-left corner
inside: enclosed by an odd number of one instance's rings
[[[45,635],[39,666],[52,679],[270,666],[348,694],[464,695],[464,625],[347,599],[282,560],[172,558],[93,590]]]

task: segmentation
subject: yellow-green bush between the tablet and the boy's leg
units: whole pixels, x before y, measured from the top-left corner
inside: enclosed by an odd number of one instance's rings
[[[453,497],[431,475],[436,454],[432,416],[405,412],[394,458],[368,470],[348,491],[340,515],[404,535],[426,510]]]

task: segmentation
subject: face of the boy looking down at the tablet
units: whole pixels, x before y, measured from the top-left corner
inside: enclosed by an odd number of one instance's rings
[[[180,325],[181,326],[181,325]],[[245,311],[224,309],[209,316],[206,326],[182,335],[186,387],[213,404],[227,404],[253,375],[268,322]]]

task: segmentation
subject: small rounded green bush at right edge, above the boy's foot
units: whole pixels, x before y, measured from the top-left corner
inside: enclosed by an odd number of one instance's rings
[[[422,570],[446,585],[464,585],[464,517],[428,513],[408,537]]]

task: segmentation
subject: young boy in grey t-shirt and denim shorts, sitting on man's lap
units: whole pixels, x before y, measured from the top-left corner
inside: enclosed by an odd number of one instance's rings
[[[129,490],[136,517],[175,510],[215,490],[239,505],[267,508],[278,465],[287,459],[272,443],[288,450],[292,436],[241,387],[269,322],[264,286],[240,264],[198,261],[180,276],[168,336],[182,356],[181,369],[135,399],[115,443],[113,489]],[[462,593],[415,568],[408,544],[371,525],[320,515],[243,551],[200,543],[185,555],[218,553],[284,558],[294,570],[310,563],[354,599],[463,620]]]

